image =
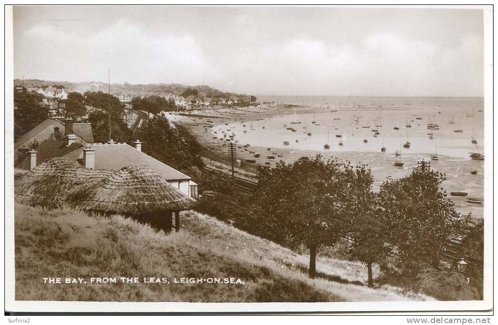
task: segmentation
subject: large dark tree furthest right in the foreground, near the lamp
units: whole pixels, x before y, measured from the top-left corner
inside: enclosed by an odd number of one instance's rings
[[[423,163],[409,176],[385,183],[378,195],[377,213],[395,246],[401,273],[437,269],[446,243],[465,231],[465,218],[440,190],[444,179]]]

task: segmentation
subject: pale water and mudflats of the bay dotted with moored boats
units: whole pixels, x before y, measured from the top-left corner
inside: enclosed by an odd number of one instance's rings
[[[470,152],[479,152],[484,146],[482,98],[260,100],[265,103],[258,107],[192,112],[209,117],[166,116],[187,127],[202,145],[220,155],[229,155],[224,143],[232,136],[241,161],[249,159],[274,166],[279,160],[291,163],[303,156],[321,154],[352,164],[367,164],[372,169],[374,191],[388,178],[406,176],[418,162],[430,161],[434,170],[445,173],[443,191],[457,210],[463,215],[470,212],[473,218],[483,217],[482,204],[450,195],[465,191],[468,197],[484,196],[484,162],[469,157]],[[437,124],[437,129],[428,129],[429,123]],[[477,141],[477,147],[472,139]],[[403,147],[406,142],[410,142],[409,148]],[[325,144],[330,148],[324,148]],[[382,147],[385,152],[381,152]],[[401,155],[396,156],[396,151]],[[258,158],[254,157],[256,153]],[[437,155],[439,160],[431,160],[431,155]],[[271,156],[275,159],[268,159]],[[402,161],[403,167],[394,167],[395,161]]]

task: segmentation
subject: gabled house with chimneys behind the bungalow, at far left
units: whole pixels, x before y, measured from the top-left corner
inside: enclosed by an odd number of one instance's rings
[[[49,117],[28,132],[21,135],[14,143],[14,157],[16,160],[27,155],[30,144],[42,143],[48,140],[56,131],[62,134],[74,133],[77,143],[93,143],[93,132],[91,123],[74,123],[72,119],[64,117]]]

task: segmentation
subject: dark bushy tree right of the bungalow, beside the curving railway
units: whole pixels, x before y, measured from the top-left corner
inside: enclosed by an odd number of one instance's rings
[[[143,152],[173,168],[186,171],[204,166],[197,140],[183,128],[172,127],[165,117],[145,120],[137,138],[143,143]]]

